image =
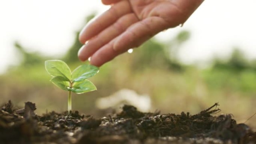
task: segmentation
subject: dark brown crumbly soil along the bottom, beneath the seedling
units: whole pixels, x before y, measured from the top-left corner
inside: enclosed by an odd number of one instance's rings
[[[9,101],[0,109],[0,144],[223,144],[256,143],[256,132],[237,124],[231,114],[214,104],[198,114],[142,113],[124,105],[121,113],[94,119],[78,111],[39,116],[36,105],[13,109]]]

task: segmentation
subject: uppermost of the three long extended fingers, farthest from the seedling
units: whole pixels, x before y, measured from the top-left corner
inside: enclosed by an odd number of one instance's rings
[[[127,0],[122,0],[114,4],[109,10],[83,28],[79,34],[79,41],[85,43],[87,40],[109,27],[109,25],[113,24],[121,16],[130,13],[131,11],[131,7]]]

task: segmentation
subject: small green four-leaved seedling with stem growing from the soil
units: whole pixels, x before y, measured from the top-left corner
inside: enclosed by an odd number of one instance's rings
[[[98,73],[99,68],[93,65],[80,65],[72,73],[68,65],[61,60],[45,61],[46,71],[53,76],[51,82],[68,91],[68,113],[71,111],[71,92],[82,94],[97,90],[89,77]]]

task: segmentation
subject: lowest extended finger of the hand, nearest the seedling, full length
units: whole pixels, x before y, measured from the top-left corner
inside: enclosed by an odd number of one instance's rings
[[[92,55],[90,63],[100,67],[128,49],[141,45],[141,43],[166,28],[168,28],[168,23],[158,17],[149,17],[137,22],[123,34],[97,50]]]

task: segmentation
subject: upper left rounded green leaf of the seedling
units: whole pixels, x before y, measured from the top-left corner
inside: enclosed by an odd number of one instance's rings
[[[52,76],[62,76],[65,80],[71,80],[71,71],[68,65],[61,60],[45,61],[45,69]]]

